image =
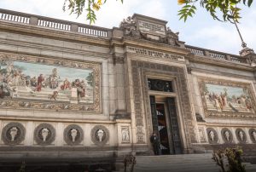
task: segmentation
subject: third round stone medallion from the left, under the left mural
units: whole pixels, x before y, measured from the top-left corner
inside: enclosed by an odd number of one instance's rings
[[[68,145],[76,146],[84,140],[84,131],[83,129],[76,124],[68,125],[64,129],[64,140]]]

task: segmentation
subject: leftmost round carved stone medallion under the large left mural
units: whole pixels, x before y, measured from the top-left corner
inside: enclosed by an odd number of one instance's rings
[[[7,145],[18,145],[25,139],[26,129],[21,123],[8,123],[3,127],[2,140]]]

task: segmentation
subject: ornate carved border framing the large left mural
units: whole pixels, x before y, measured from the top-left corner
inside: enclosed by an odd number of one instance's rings
[[[54,101],[40,101],[40,100],[1,100],[1,108],[26,108],[38,109],[47,111],[88,111],[99,112],[101,110],[101,65],[94,62],[85,62],[81,60],[59,60],[46,57],[36,57],[23,54],[0,54],[0,61],[15,60],[29,63],[38,63],[49,66],[66,66],[79,69],[90,69],[94,74],[94,103],[93,104],[71,104],[71,103],[56,103]]]

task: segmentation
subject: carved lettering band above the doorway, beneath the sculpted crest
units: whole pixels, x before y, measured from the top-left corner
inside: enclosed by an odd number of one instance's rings
[[[142,55],[148,55],[155,58],[160,59],[170,59],[170,60],[176,60],[176,61],[184,61],[184,57],[181,55],[176,54],[167,54],[159,51],[152,51],[148,49],[138,49],[134,47],[127,47],[126,51],[128,53],[135,53],[135,54],[142,54]]]

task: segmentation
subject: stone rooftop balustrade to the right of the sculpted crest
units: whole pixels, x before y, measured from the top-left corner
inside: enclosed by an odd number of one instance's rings
[[[226,54],[223,52],[213,51],[210,49],[201,49],[201,48],[193,47],[190,45],[185,45],[185,49],[189,49],[189,51],[193,54],[206,56],[206,57],[213,58],[213,59],[229,60],[229,61],[245,63],[245,64],[248,63],[246,58],[243,58],[243,57],[241,57],[239,55],[235,55],[235,54]]]

